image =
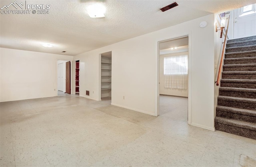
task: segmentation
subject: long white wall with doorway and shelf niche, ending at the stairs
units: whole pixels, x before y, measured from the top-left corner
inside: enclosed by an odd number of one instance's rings
[[[208,26],[200,28],[202,21]],[[81,96],[100,100],[99,54],[112,51],[112,104],[158,113],[158,41],[189,35],[189,124],[214,130],[214,14],[77,55]],[[123,99],[125,96],[125,99]]]

